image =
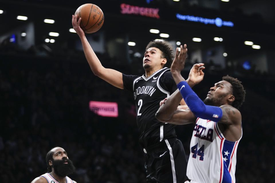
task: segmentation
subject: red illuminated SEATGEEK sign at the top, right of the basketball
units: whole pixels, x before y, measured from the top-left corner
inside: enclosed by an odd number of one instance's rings
[[[139,6],[132,6],[127,4],[121,4],[121,13],[122,14],[135,14],[135,15],[141,15],[144,17],[151,17],[151,18],[160,18],[160,15],[158,15],[158,8],[145,8],[145,7],[139,7]]]

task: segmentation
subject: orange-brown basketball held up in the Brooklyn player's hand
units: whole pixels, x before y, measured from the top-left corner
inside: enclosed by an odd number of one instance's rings
[[[77,15],[77,20],[81,17],[80,27],[85,33],[98,31],[104,22],[102,10],[97,5],[90,3],[78,7],[74,15]]]

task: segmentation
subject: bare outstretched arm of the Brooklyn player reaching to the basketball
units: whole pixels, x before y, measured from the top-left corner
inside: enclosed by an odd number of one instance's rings
[[[122,73],[114,69],[107,69],[102,66],[101,62],[97,58],[97,55],[93,51],[89,42],[87,41],[84,31],[79,26],[80,21],[81,21],[81,18],[79,18],[79,20],[77,21],[77,15],[75,16],[72,15],[72,26],[80,37],[83,51],[91,67],[91,70],[95,75],[107,81],[111,85],[118,87],[120,89],[123,89]]]

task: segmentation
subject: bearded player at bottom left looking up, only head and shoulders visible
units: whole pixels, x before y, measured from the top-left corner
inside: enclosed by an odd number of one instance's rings
[[[60,147],[51,149],[46,155],[48,173],[35,178],[31,183],[76,183],[67,177],[75,170],[67,152]]]

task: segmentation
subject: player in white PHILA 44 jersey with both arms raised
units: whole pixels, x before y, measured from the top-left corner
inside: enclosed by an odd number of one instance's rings
[[[201,101],[191,87],[203,79],[204,64],[192,67],[187,83],[180,75],[186,53],[186,45],[180,52],[177,49],[171,72],[179,90],[160,102],[156,118],[171,124],[195,124],[187,165],[191,183],[234,183],[237,146],[242,136],[238,108],[245,90],[239,80],[227,75]],[[188,107],[179,109],[177,104],[182,98]]]

